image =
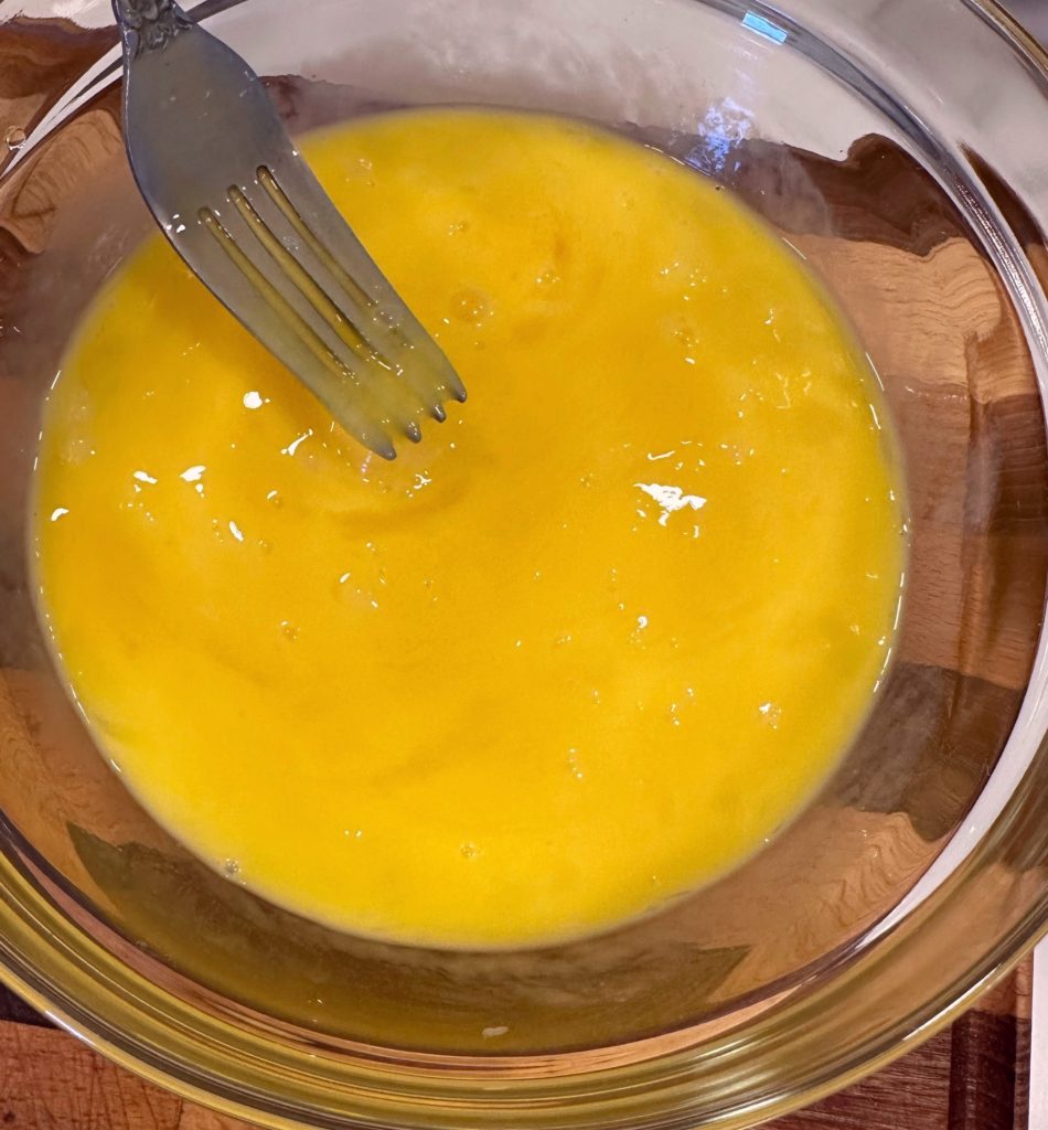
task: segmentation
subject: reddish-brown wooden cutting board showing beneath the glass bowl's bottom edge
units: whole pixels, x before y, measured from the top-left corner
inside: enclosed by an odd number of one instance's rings
[[[1028,960],[952,1028],[774,1130],[1028,1130]],[[241,1130],[143,1083],[0,989],[0,1130]]]

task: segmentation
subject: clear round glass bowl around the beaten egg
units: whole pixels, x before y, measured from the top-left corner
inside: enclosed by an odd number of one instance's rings
[[[332,932],[216,877],[106,767],[33,611],[41,401],[150,223],[108,5],[0,9],[3,979],[121,1063],[271,1127],[742,1127],[906,1051],[1048,921],[1048,60],[980,0],[198,15],[294,130],[421,103],[556,111],[734,189],[880,373],[906,457],[907,600],[873,714],[821,794],[643,922],[439,953]]]

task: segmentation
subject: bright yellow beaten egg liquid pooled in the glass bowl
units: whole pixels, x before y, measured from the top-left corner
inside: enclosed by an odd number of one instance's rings
[[[405,112],[304,150],[470,392],[369,457],[159,237],[46,410],[42,610],[184,843],[408,944],[603,930],[789,820],[866,714],[902,522],[796,255],[664,155]]]

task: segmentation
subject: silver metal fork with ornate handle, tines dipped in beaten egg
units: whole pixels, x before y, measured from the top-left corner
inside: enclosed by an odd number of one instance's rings
[[[174,0],[113,0],[131,169],[175,250],[385,459],[465,389],[292,145],[257,75]]]

